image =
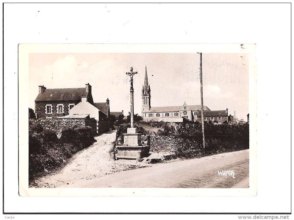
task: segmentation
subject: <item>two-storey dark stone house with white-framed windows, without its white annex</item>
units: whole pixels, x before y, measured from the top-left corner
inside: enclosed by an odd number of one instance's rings
[[[56,118],[69,114],[69,110],[81,102],[81,97],[87,97],[92,105],[91,85],[85,88],[47,89],[39,86],[39,94],[35,99],[36,118]]]

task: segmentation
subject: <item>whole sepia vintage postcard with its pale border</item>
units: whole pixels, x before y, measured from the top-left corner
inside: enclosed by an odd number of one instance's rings
[[[255,66],[253,44],[20,44],[19,194],[255,196]]]

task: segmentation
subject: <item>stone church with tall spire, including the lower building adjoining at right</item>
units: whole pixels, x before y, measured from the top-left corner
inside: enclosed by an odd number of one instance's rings
[[[211,111],[203,106],[204,121],[228,121],[228,108],[226,110]],[[142,86],[142,113],[143,121],[182,122],[183,118],[190,121],[201,122],[201,105],[183,105],[151,107],[151,90],[148,83],[147,67],[145,67],[145,80]]]

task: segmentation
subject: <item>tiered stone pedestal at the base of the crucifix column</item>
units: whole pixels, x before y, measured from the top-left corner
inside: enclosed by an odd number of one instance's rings
[[[123,146],[116,147],[117,159],[141,159],[149,153],[149,146],[142,146],[141,134],[137,133],[136,127],[128,128],[123,134]]]

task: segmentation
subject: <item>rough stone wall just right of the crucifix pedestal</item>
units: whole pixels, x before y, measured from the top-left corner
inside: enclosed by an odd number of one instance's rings
[[[143,144],[148,144],[148,136],[141,136]],[[150,137],[150,153],[175,153],[177,151],[177,146],[181,145],[181,138],[174,136],[160,136],[152,134]]]

